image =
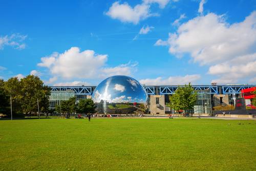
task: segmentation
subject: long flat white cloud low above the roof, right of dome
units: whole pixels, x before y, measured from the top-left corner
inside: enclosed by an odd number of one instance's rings
[[[155,79],[141,79],[140,82],[142,84],[145,84],[146,86],[169,86],[169,85],[179,85],[179,84],[187,84],[189,82],[195,83],[197,80],[201,78],[200,75],[194,74],[194,75],[185,75],[185,76],[174,76],[169,77],[167,79],[163,79],[162,77],[158,77]]]

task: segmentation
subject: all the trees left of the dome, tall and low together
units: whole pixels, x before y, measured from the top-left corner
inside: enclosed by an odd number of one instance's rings
[[[0,79],[0,114],[11,115],[11,102],[12,114],[18,117],[37,115],[38,106],[40,113],[95,113],[96,106],[91,99],[81,99],[78,103],[75,97],[60,101],[55,110],[49,110],[50,95],[50,88],[34,75],[20,80],[17,77]]]

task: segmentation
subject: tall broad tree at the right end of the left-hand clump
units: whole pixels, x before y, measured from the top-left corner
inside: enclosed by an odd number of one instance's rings
[[[22,89],[22,110],[25,114],[31,116],[38,112],[37,99],[40,112],[47,112],[49,108],[50,89],[44,85],[39,77],[28,75],[20,80]]]

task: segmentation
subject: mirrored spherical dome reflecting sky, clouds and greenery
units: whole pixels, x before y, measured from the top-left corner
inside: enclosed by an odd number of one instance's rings
[[[100,82],[93,91],[92,99],[99,113],[131,113],[133,111],[127,109],[145,109],[147,93],[134,78],[116,75]]]

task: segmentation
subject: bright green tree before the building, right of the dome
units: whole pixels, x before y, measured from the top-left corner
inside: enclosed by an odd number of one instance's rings
[[[189,110],[194,109],[194,105],[197,101],[197,92],[194,91],[193,87],[189,83],[185,84],[184,87],[178,87],[172,96],[169,96],[169,106],[174,110],[184,110],[187,113]]]

